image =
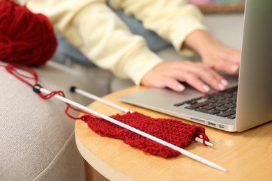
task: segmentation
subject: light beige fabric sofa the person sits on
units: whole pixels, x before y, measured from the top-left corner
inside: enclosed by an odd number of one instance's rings
[[[226,45],[241,49],[243,13],[205,15],[204,24]],[[198,56],[176,54],[172,47],[157,53],[166,61],[199,60]],[[54,58],[57,56],[61,55]],[[50,91],[64,91],[80,104],[88,105],[92,100],[70,93],[70,86],[102,97],[134,85],[95,65],[64,65],[54,58],[34,68],[40,84]],[[54,97],[41,99],[2,67],[0,74],[0,180],[85,180],[84,159],[75,145],[75,120],[64,113],[66,104]]]

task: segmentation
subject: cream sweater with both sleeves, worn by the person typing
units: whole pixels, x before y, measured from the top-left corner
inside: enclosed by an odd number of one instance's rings
[[[34,13],[49,17],[56,32],[100,68],[140,84],[163,60],[149,50],[142,37],[130,33],[107,2],[141,20],[146,29],[171,42],[177,52],[189,33],[206,29],[202,13],[186,0],[20,0]]]

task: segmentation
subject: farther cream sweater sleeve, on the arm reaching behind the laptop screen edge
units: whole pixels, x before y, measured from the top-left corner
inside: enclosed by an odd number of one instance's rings
[[[181,51],[181,46],[192,31],[206,31],[202,13],[186,0],[110,0],[109,3],[140,19],[146,29],[172,42],[180,53],[188,52],[188,49]]]

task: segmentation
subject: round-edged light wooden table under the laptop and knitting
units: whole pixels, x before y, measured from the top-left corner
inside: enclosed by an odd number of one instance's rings
[[[153,118],[173,118],[117,100],[139,89],[132,87],[103,98]],[[91,103],[89,108],[107,116],[121,113],[100,102]],[[227,173],[184,155],[172,159],[148,155],[121,140],[99,136],[81,120],[75,124],[75,139],[86,162],[108,180],[272,180],[272,123],[242,133],[204,127],[213,148],[190,143],[186,150],[227,168]]]

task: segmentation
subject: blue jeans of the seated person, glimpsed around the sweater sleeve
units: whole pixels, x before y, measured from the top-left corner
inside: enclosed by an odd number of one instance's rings
[[[142,22],[135,19],[134,17],[128,17],[122,11],[116,11],[116,14],[130,28],[130,31],[132,31],[132,33],[144,37],[151,51],[157,52],[160,49],[164,49],[165,47],[171,46],[168,42],[165,42],[165,40],[160,38],[153,31],[146,30],[144,26],[142,25]],[[78,49],[73,47],[73,45],[70,45],[70,43],[66,41],[65,38],[61,36],[57,36],[57,38],[58,38],[59,46],[56,50],[56,56],[54,56],[53,58],[54,61],[59,61],[59,60],[56,60],[58,59],[56,57],[59,57],[59,58],[62,57],[65,59],[69,58],[71,61],[80,63],[82,65],[93,65],[93,63],[91,63],[91,60],[86,58],[86,56],[84,56],[84,54],[82,54]]]

